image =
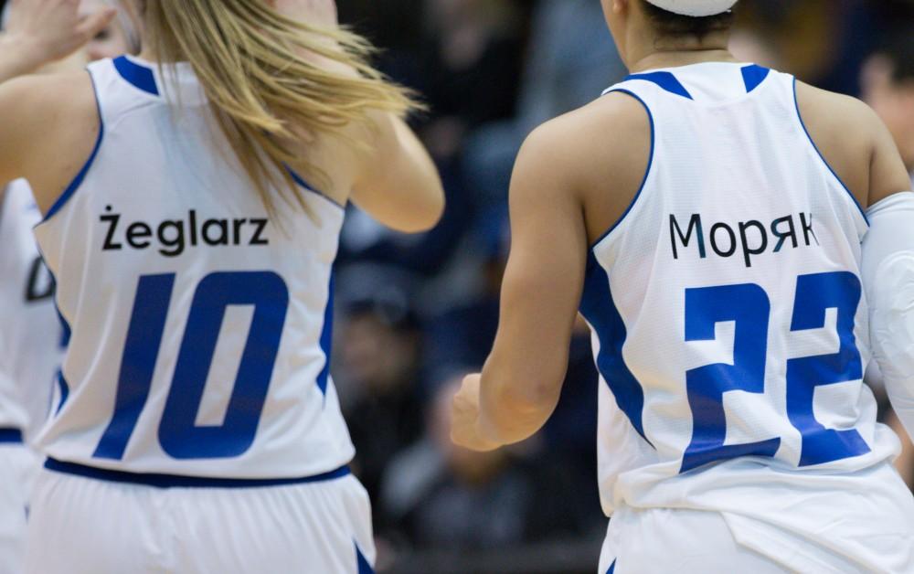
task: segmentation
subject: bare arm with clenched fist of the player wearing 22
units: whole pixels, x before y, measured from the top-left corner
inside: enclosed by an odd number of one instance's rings
[[[512,245],[498,333],[483,373],[466,377],[454,399],[454,441],[491,450],[546,423],[568,365],[588,246],[622,217],[649,153],[647,115],[623,94],[529,137],[511,184]]]

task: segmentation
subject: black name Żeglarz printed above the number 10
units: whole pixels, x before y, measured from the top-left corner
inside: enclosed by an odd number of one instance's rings
[[[187,247],[267,246],[267,218],[207,218],[197,217],[191,209],[186,218],[165,219],[156,224],[145,221],[122,222],[122,214],[114,213],[112,206],[105,207],[106,215],[99,221],[106,226],[101,250],[119,251],[126,248],[147,250],[153,248],[165,257],[177,257]],[[154,246],[154,242],[157,245]]]

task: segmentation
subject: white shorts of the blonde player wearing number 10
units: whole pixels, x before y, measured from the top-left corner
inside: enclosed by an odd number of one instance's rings
[[[29,574],[366,574],[371,507],[350,474],[262,487],[168,487],[42,470]]]

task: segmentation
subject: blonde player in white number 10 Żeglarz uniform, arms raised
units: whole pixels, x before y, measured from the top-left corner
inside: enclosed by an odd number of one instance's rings
[[[350,199],[440,217],[413,104],[331,1],[130,7],[141,58],[0,86],[0,177],[34,187],[69,330],[27,571],[370,571],[331,265]]]

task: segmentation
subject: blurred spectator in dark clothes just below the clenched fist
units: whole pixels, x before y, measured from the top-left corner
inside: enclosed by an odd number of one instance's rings
[[[480,549],[592,533],[593,509],[574,495],[560,462],[453,445],[451,400],[460,378],[436,392],[426,436],[391,462],[378,510],[417,547]]]

